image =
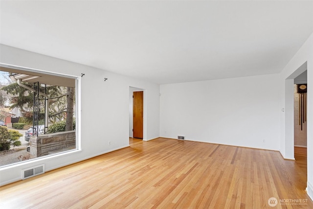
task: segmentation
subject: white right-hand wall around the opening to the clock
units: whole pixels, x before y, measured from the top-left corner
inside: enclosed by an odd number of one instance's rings
[[[298,52],[281,72],[281,106],[289,107],[284,114],[281,114],[281,153],[285,158],[293,158],[293,137],[289,136],[289,129],[293,129],[293,81],[298,75],[308,70],[308,112],[307,112],[307,153],[308,153],[308,182],[307,192],[313,199],[313,34],[301,46]],[[292,109],[290,108],[292,107]],[[293,136],[293,135],[292,135]]]

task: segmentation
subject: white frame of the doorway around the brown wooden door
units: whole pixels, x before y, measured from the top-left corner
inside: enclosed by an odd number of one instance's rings
[[[147,141],[147,90],[129,87],[129,137],[133,138],[133,92],[143,92],[143,141]]]

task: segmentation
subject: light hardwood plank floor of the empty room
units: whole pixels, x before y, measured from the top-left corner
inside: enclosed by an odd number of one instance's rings
[[[306,151],[277,151],[158,138],[0,187],[0,208],[312,209]],[[298,155],[298,156],[297,156]],[[280,200],[306,201],[281,205]]]

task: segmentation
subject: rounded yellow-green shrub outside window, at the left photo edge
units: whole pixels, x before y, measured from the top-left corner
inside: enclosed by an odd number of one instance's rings
[[[9,150],[10,146],[21,145],[20,137],[23,135],[15,130],[8,130],[4,126],[0,126],[0,151]]]

